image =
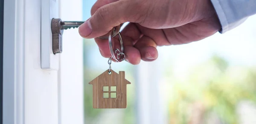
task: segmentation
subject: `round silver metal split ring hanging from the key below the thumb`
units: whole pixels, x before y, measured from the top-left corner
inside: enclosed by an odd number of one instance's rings
[[[117,52],[114,52],[114,50],[113,50],[112,31],[109,33],[108,44],[109,44],[109,49],[110,49],[111,56],[112,56],[111,58],[113,58],[116,62],[121,62],[121,61],[125,60],[124,46],[123,46],[122,37],[121,37],[120,32],[118,32],[117,35],[119,37],[119,41],[120,41],[120,44],[121,44],[121,51],[119,49],[116,49],[116,51],[119,52],[119,53],[117,53]],[[115,53],[117,54],[117,59],[116,59]],[[119,60],[121,60],[121,61],[119,61]]]

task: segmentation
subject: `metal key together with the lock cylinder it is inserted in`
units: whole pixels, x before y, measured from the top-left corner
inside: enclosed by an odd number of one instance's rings
[[[63,31],[71,28],[78,28],[84,21],[62,21],[59,18],[52,19],[52,51],[53,54],[62,52],[62,35]],[[120,26],[117,26],[112,30],[112,37],[115,37],[120,31]],[[108,39],[108,35],[98,37],[101,39]]]

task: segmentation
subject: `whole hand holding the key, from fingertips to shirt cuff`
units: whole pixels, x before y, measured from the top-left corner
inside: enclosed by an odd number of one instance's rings
[[[121,32],[126,61],[154,61],[157,46],[190,43],[209,37],[221,29],[210,0],[98,0],[92,17],[79,27],[84,38],[95,38],[100,53],[110,58],[108,34],[115,26],[131,22]],[[118,37],[113,46],[119,46]]]

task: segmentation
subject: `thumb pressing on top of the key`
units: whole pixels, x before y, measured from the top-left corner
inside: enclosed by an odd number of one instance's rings
[[[135,21],[140,17],[138,13],[140,10],[134,9],[136,5],[131,1],[134,0],[119,0],[100,7],[90,19],[79,26],[79,34],[88,39],[96,38],[107,34],[121,23],[128,21],[136,23]]]

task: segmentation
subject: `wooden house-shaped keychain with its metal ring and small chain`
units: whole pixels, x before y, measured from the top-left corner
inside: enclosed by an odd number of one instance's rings
[[[121,50],[116,49],[114,52],[112,37],[114,37],[115,35],[118,35],[119,37]],[[108,60],[109,69],[93,79],[93,81],[90,81],[89,83],[93,85],[93,108],[126,108],[126,85],[131,83],[125,79],[124,71],[119,71],[119,73],[116,73],[111,69],[112,58],[116,62],[121,62],[125,60],[122,37],[119,33],[119,30],[116,30],[116,27],[114,27],[109,33],[108,44],[112,56]]]

